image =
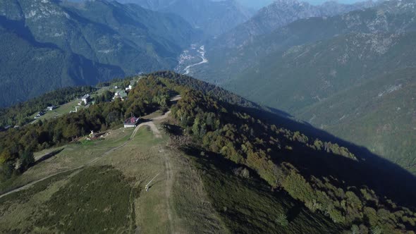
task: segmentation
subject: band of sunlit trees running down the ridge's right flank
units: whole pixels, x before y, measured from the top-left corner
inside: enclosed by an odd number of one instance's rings
[[[195,90],[183,90],[172,113],[204,149],[254,169],[271,187],[286,191],[345,230],[403,233],[416,228],[414,211],[380,197],[369,182],[368,186],[355,186],[355,181],[370,180],[360,178],[359,162],[345,147],[268,125],[240,111],[238,106]],[[348,171],[342,171],[343,164]],[[343,177],[344,173],[350,176]],[[351,176],[355,176],[354,180]]]

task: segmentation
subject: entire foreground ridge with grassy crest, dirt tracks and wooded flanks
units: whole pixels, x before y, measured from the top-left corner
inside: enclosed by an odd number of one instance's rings
[[[132,82],[127,99],[102,99]],[[1,232],[415,230],[410,173],[219,87],[158,72],[92,97],[0,132]],[[140,125],[120,128],[132,114]]]

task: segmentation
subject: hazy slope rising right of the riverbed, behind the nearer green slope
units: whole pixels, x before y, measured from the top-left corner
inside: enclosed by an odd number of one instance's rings
[[[243,70],[255,67],[269,54],[283,54],[290,47],[310,44],[336,35],[353,32],[406,32],[415,30],[414,1],[386,1],[373,8],[352,11],[341,16],[300,19],[268,35],[255,37],[243,47],[207,51],[209,63],[195,68],[192,74],[212,82],[224,82]]]

